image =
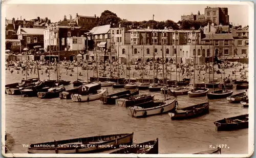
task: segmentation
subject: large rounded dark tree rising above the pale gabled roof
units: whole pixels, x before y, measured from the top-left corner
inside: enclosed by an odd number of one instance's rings
[[[98,25],[109,25],[109,24],[115,24],[118,25],[119,22],[121,21],[121,18],[118,17],[115,13],[105,10],[101,13],[99,20],[98,20]]]

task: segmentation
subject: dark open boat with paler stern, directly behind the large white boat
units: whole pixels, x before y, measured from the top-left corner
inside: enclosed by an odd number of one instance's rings
[[[129,106],[134,106],[136,104],[141,104],[149,101],[154,100],[154,95],[138,95],[138,96],[131,96],[130,98],[121,98],[121,99],[116,99],[116,105],[118,106],[124,106],[124,107],[129,107]]]

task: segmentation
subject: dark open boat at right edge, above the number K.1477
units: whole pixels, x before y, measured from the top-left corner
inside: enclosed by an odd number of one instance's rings
[[[215,121],[214,124],[216,125],[217,131],[230,131],[230,130],[237,130],[248,128],[249,122],[249,115],[239,115],[236,117],[231,117],[227,119],[222,119]]]

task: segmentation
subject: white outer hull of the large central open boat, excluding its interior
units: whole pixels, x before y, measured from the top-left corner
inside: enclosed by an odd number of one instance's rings
[[[128,115],[132,117],[147,117],[152,115],[164,114],[165,112],[171,111],[176,106],[176,99],[170,98],[168,100],[164,100],[164,104],[151,108],[136,108],[130,107],[127,108]]]

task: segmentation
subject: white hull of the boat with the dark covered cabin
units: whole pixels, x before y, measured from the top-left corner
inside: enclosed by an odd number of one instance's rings
[[[71,95],[71,99],[73,100],[73,102],[89,102],[93,100],[98,100],[103,95],[106,95],[106,89],[99,89],[97,90],[96,94],[88,94],[85,96],[74,94],[74,95]]]

